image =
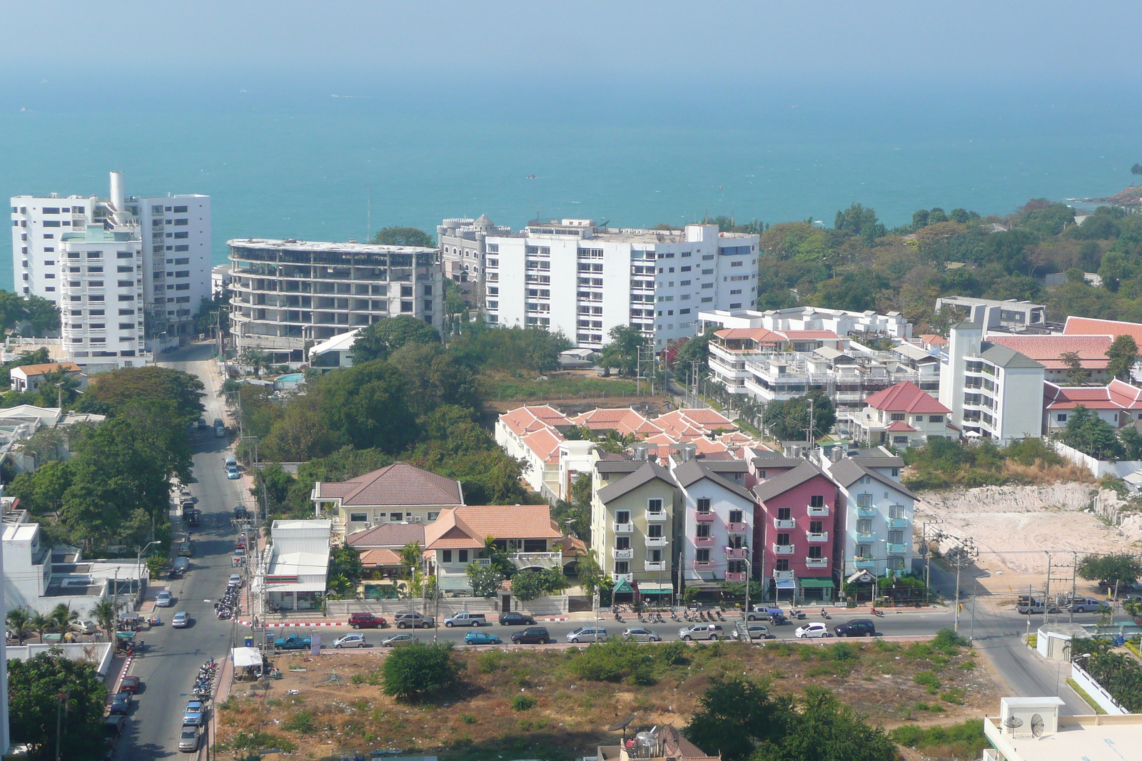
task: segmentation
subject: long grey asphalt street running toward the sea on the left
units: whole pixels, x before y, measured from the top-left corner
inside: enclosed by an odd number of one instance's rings
[[[214,383],[207,377],[207,362],[212,356],[210,347],[193,347],[170,356],[182,361],[161,364],[202,378],[207,387],[203,399],[207,422],[223,418],[218,399],[214,396]],[[146,642],[144,656],[135,659],[130,673],[142,677],[145,687],[135,701],[115,752],[115,758],[123,761],[185,758],[178,752],[183,709],[190,699],[185,694],[193,686],[199,666],[210,657],[224,658],[234,637],[241,637],[231,622],[218,621],[214,614],[214,601],[233,573],[231,551],[236,534],[231,518],[234,505],[248,495],[242,494],[241,480],[228,480],[224,472],[223,460],[228,451],[228,439],[216,438],[214,430],[208,429],[195,431],[192,444],[194,481],[191,492],[199,497],[202,520],[193,533],[194,557],[191,558],[190,573],[182,580],[170,582],[174,606],[159,609],[163,621],[161,626],[140,634]],[[180,521],[176,519],[175,525],[179,526]],[[191,615],[193,625],[171,629],[170,620],[179,610]]]

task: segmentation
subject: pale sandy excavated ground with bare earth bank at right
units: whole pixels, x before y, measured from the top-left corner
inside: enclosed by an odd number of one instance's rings
[[[1073,483],[932,492],[916,502],[917,543],[925,521],[939,521],[928,524],[930,535],[970,537],[975,566],[990,574],[979,583],[992,594],[1013,593],[1043,585],[1048,553],[1070,564],[1073,552],[1142,552],[1142,513],[1124,515],[1124,505],[1111,491]]]

